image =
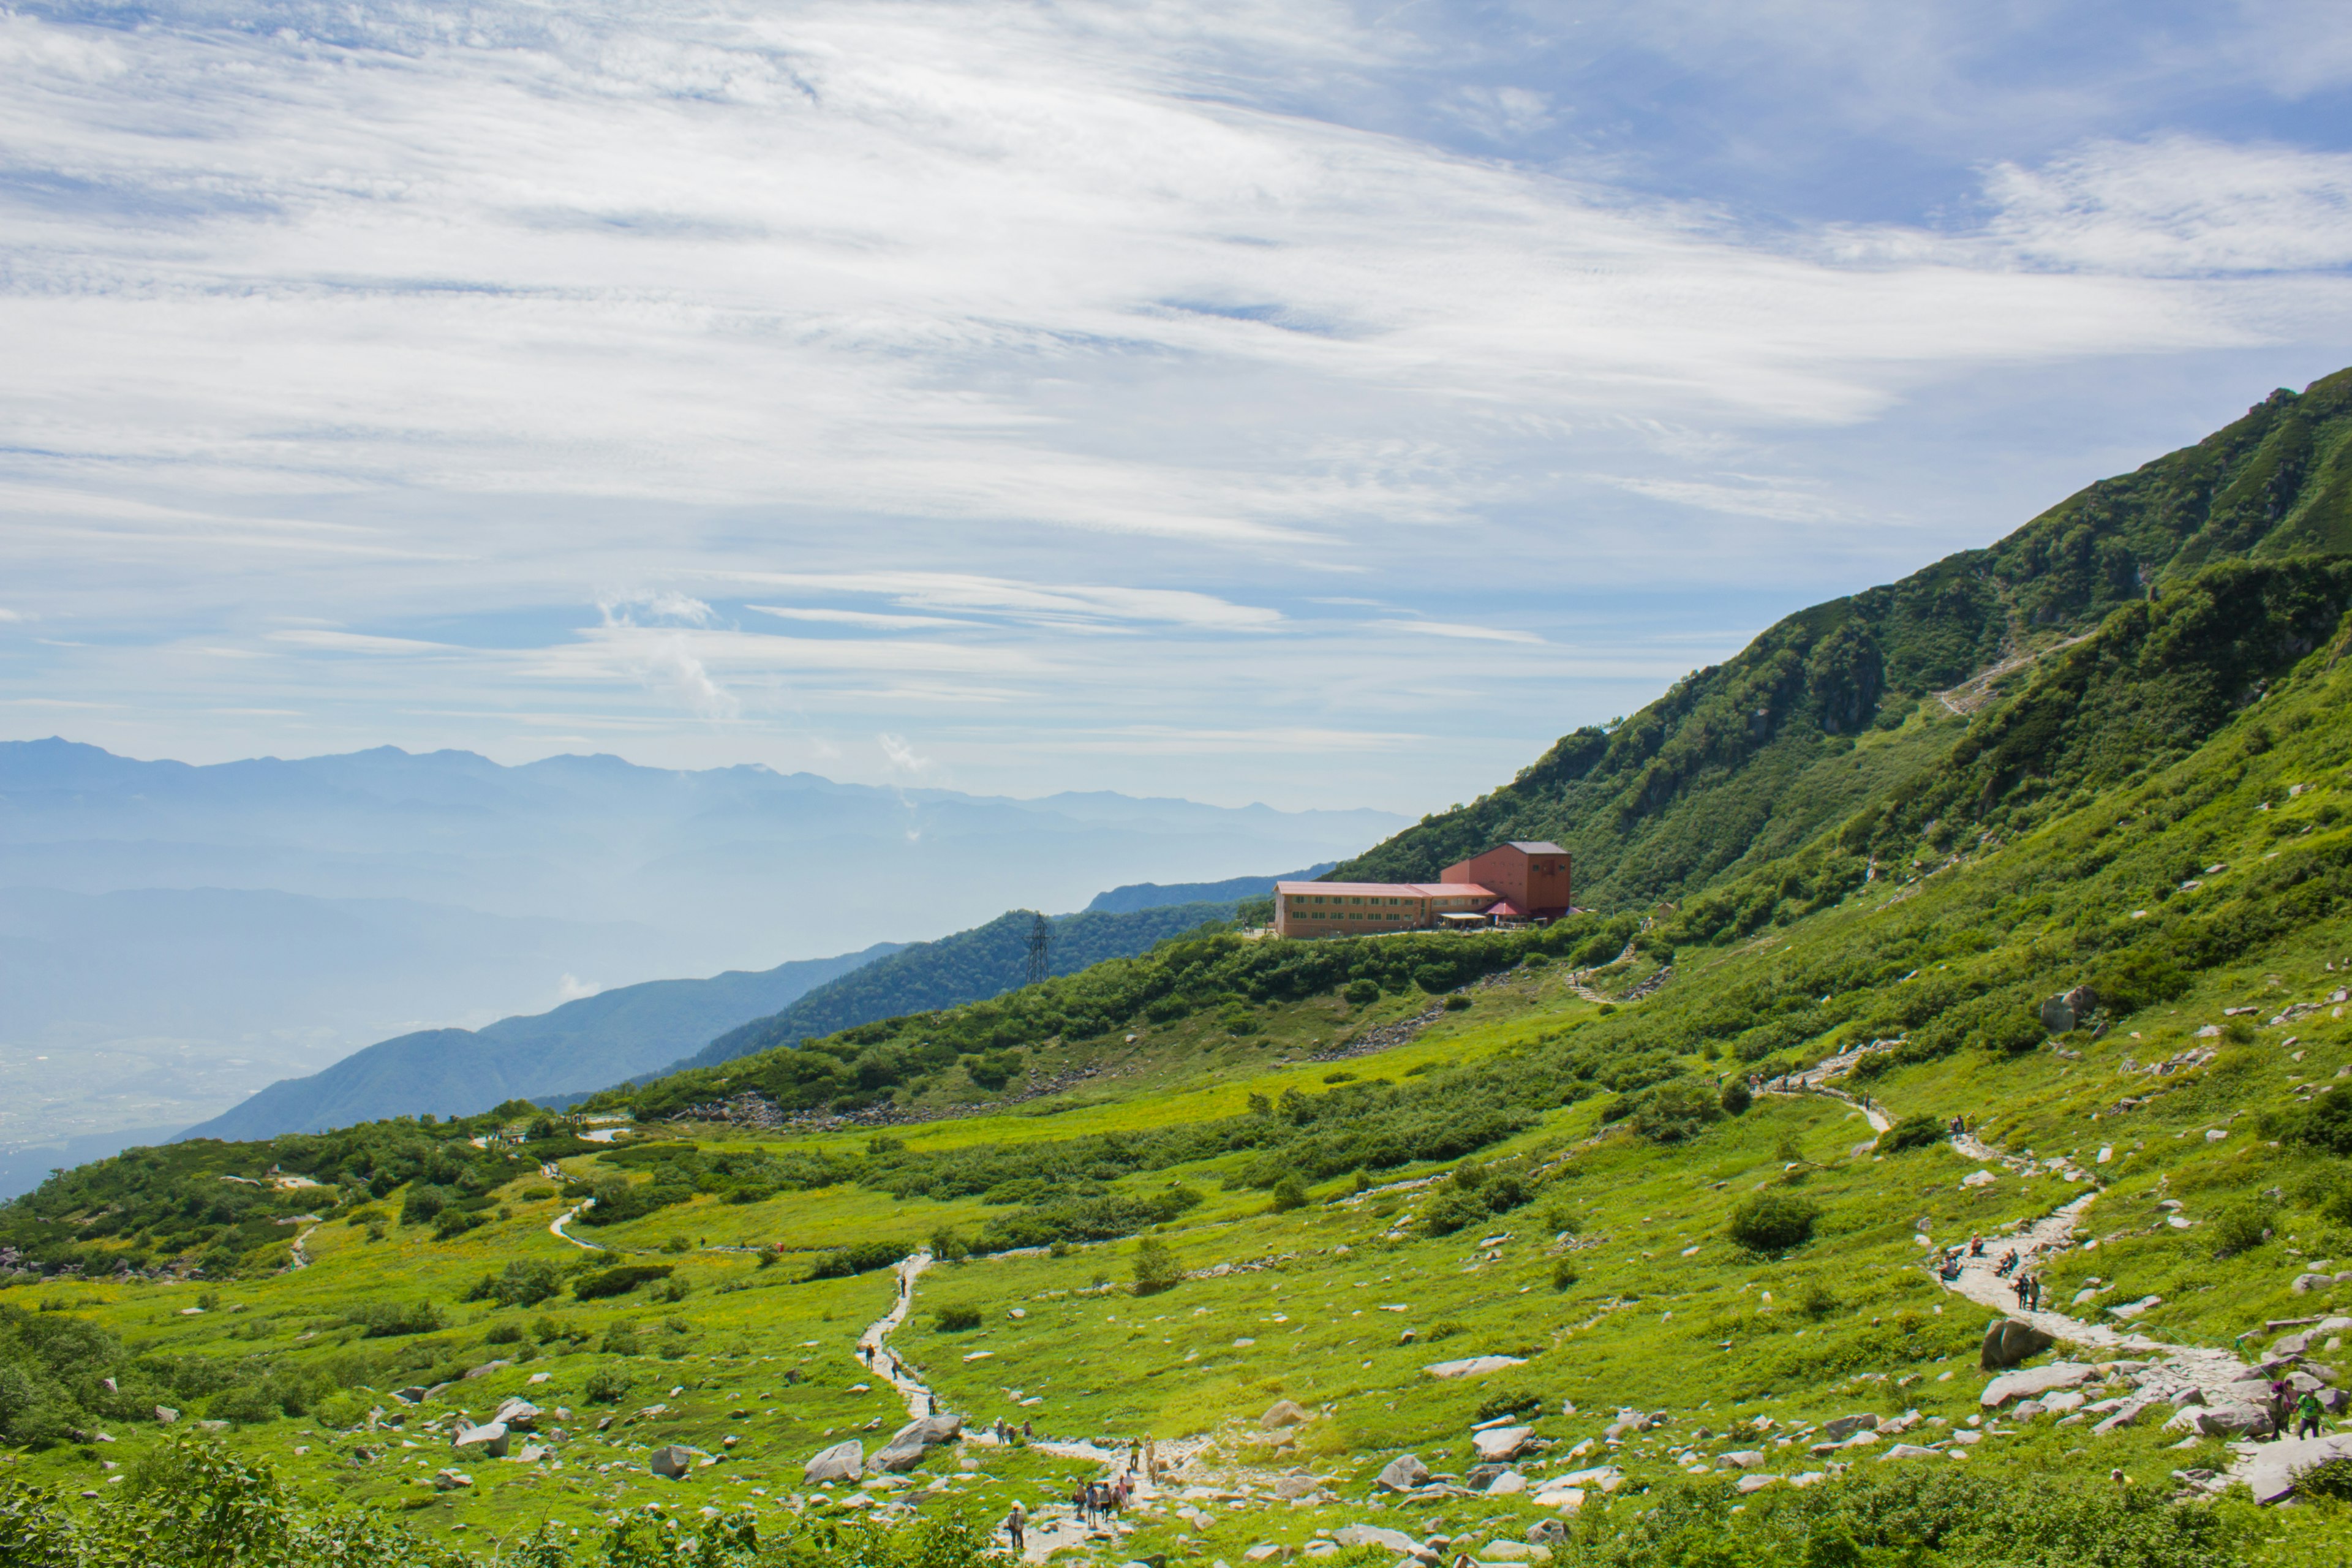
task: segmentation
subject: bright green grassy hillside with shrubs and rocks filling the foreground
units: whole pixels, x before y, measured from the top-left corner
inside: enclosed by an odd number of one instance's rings
[[[355,1509],[334,1528],[426,1542],[332,1561],[546,1528],[541,1556],[506,1561],[670,1561],[654,1542],[691,1537],[708,1563],[946,1566],[981,1544],[946,1521],[1014,1500],[1040,1516],[1033,1549],[1105,1566],[1331,1554],[1315,1542],[1348,1526],[1505,1561],[1548,1521],[1566,1526],[1552,1563],[2333,1561],[2352,1505],[2328,1474],[2265,1509],[2227,1479],[2267,1446],[2166,1427],[2169,1399],[2129,1413],[2136,1387],[2265,1352],[2314,1389],[2338,1375],[2347,609],[2345,564],[2303,557],[2122,604],[1969,722],[1846,736],[1856,773],[1877,750],[1943,762],[1889,766],[1799,851],[1646,929],[1202,936],[628,1091],[637,1133],[614,1147],[508,1107],[54,1178],[0,1211],[0,1244],[40,1269],[0,1288],[0,1420],[21,1446],[0,1495],[28,1540],[167,1530],[139,1497],[268,1490],[233,1460],[268,1465],[296,1519]],[[2096,1001],[2049,1034],[2042,999],[2077,985]],[[863,1084],[894,1051],[906,1072]],[[1002,1088],[964,1060],[993,1074],[993,1051],[1018,1053]],[[1846,1098],[1745,1093],[1832,1058]],[[818,1060],[830,1098],[809,1105],[960,1114],[663,1119]],[[1943,1138],[1952,1117],[1983,1145]],[[273,1164],[325,1187],[221,1180]],[[548,1229],[583,1197],[572,1232],[595,1253]],[[2098,1408],[1990,1410],[1994,1312],[1922,1260],[1971,1234],[1997,1253],[2060,1208],[2034,1269],[2070,1316],[2037,1321],[2072,1342],[2032,1363],[2107,1368],[2084,1389]],[[296,1211],[315,1229],[273,1225]],[[275,1272],[299,1232],[308,1267]],[[1040,1443],[811,1488],[811,1453],[906,1420],[851,1347],[891,1307],[880,1265],[915,1248],[938,1262],[891,1347],[946,1408]],[[167,1253],[207,1276],[111,1276]],[[1430,1373],[1465,1356],[1505,1361]],[[555,1413],[543,1453],[461,1460],[454,1413],[510,1394]],[[1261,1425],[1282,1399],[1305,1420]],[[1472,1425],[1508,1413],[1550,1443],[1510,1467],[1522,1490],[1374,1483],[1404,1453],[1470,1479]],[[1907,1448],[1818,1448],[1832,1418],[1912,1413]],[[174,1458],[198,1415],[226,1422],[212,1479]],[[101,1427],[113,1443],[85,1441]],[[1061,1530],[1058,1500],[1101,1474],[1077,1441],[1136,1436],[1183,1460],[1176,1479],[1131,1533]],[[717,1462],[659,1479],[661,1443]],[[435,1488],[442,1467],[470,1486]],[[1592,1467],[1613,1474],[1585,1474],[1573,1509],[1548,1490]],[[630,1523],[649,1519],[677,1523]]]

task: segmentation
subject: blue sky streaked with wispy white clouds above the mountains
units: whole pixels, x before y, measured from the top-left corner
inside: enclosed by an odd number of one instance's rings
[[[1437,809],[2352,364],[2347,16],[0,12],[0,736]]]

